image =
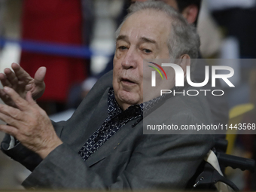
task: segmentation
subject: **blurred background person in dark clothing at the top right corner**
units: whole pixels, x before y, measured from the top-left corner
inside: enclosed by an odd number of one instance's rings
[[[235,89],[227,90],[229,106],[232,108],[248,102],[256,104],[254,63],[242,61],[256,58],[256,26],[252,24],[256,21],[256,1],[208,1],[208,7],[224,36],[221,58],[233,61],[241,58],[236,70],[239,84]],[[244,94],[237,94],[241,92]]]

